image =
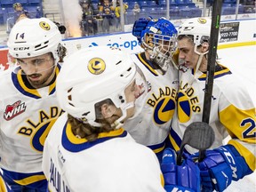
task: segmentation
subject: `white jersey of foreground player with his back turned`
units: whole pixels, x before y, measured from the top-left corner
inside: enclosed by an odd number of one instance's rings
[[[50,191],[164,192],[154,152],[124,131],[102,132],[97,140],[78,139],[67,113],[44,143],[43,170]]]

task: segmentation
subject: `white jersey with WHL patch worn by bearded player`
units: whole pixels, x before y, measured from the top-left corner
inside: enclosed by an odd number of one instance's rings
[[[60,66],[56,76],[59,71]],[[33,89],[24,83],[20,69],[18,73],[4,71],[0,82],[0,166],[20,185],[33,185],[45,180],[44,140],[64,112],[57,104],[55,80],[47,87]]]

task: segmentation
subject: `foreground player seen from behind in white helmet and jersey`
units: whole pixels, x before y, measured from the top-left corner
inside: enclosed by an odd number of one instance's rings
[[[108,46],[82,49],[66,62],[56,86],[66,113],[44,144],[49,190],[164,192],[156,155],[122,128],[148,92],[140,68]]]

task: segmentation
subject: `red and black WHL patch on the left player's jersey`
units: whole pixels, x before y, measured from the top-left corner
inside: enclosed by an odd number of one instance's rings
[[[21,103],[21,100],[16,101],[12,105],[7,105],[4,111],[4,119],[6,121],[11,120],[15,116],[19,116],[26,110],[25,102]]]

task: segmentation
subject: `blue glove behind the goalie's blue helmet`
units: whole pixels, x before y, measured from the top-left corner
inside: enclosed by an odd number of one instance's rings
[[[141,43],[141,32],[145,30],[145,28],[152,26],[154,23],[155,21],[153,21],[151,17],[135,20],[132,27],[132,36],[136,36],[139,43]]]

